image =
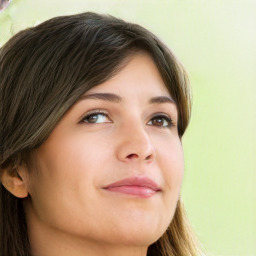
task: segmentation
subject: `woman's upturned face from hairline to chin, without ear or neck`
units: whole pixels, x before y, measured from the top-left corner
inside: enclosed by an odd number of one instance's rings
[[[152,59],[138,53],[87,91],[34,160],[25,204],[32,242],[38,230],[98,244],[156,241],[175,212],[183,150],[177,107]]]

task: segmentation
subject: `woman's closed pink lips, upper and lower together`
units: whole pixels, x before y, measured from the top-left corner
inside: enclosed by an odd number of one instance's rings
[[[139,176],[119,180],[107,185],[104,189],[142,198],[153,196],[161,191],[161,188],[153,180]]]

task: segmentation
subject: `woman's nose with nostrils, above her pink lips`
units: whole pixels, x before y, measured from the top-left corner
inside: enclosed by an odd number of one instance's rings
[[[122,129],[117,147],[117,157],[122,162],[151,162],[156,155],[155,147],[143,127],[134,125]]]

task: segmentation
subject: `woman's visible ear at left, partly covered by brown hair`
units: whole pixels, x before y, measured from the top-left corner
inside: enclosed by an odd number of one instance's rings
[[[3,186],[14,196],[25,198],[28,196],[28,190],[25,182],[25,170],[19,169],[3,169],[1,170],[1,182]]]

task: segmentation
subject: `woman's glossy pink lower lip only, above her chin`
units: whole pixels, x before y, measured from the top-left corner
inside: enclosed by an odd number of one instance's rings
[[[110,188],[106,188],[106,190],[111,192],[127,194],[127,195],[133,195],[133,196],[142,197],[142,198],[151,197],[157,192],[156,190],[153,190],[151,188],[139,187],[139,186],[110,187]]]

